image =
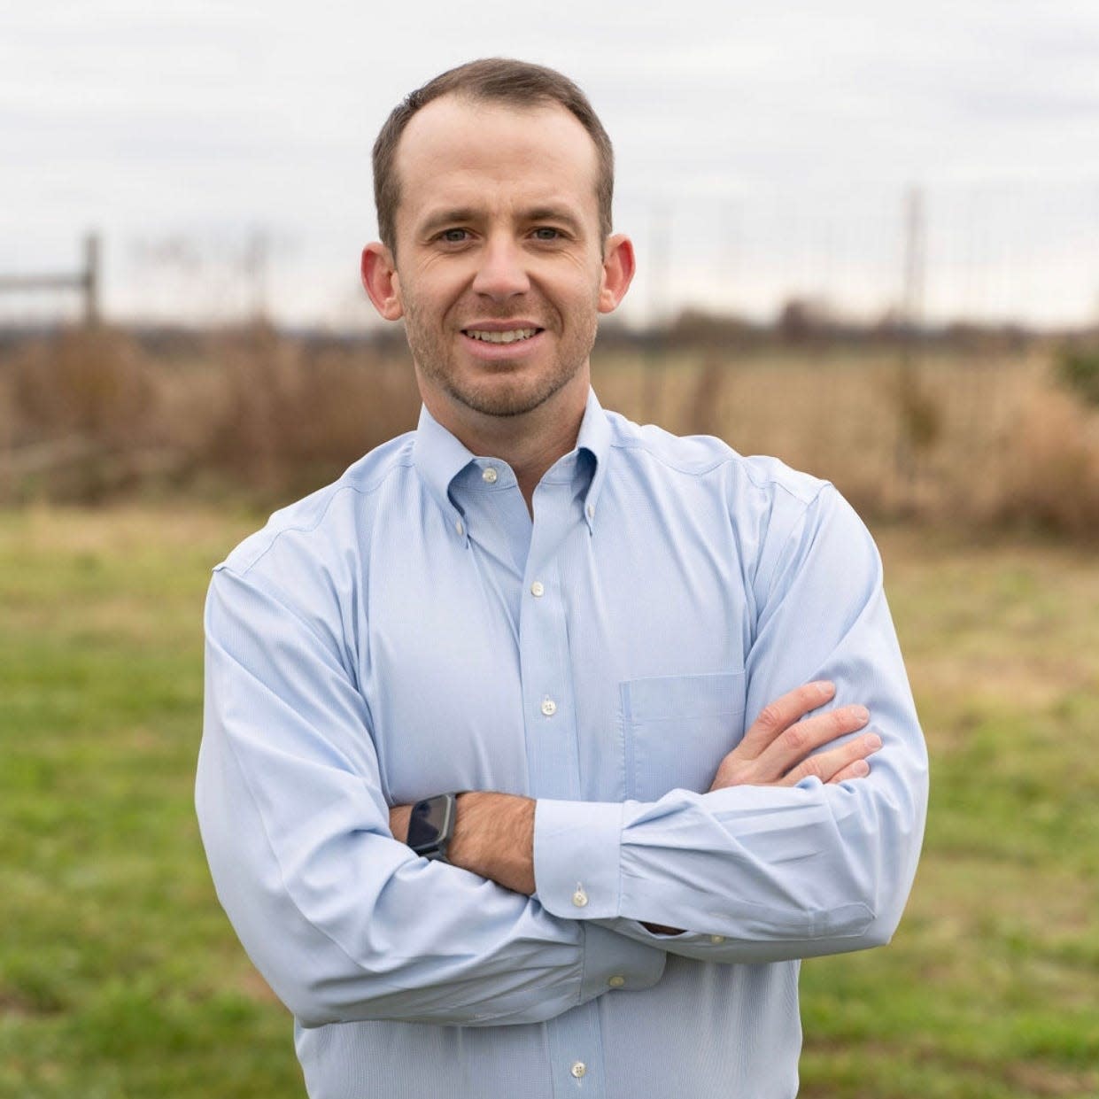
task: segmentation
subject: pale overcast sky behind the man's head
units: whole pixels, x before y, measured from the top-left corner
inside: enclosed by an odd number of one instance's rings
[[[600,112],[628,318],[876,310],[913,185],[929,313],[1099,310],[1097,0],[0,0],[0,270],[71,266],[95,227],[115,315],[363,322],[374,135],[488,55],[560,68]]]

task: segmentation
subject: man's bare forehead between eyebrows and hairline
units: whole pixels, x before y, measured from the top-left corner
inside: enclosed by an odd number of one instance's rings
[[[456,96],[418,111],[401,135],[398,225],[440,207],[568,203],[598,217],[598,154],[564,107],[514,107]]]

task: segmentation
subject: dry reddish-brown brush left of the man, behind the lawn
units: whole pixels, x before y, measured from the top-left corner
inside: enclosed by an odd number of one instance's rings
[[[362,347],[256,328],[179,357],[116,330],[63,333],[0,360],[0,499],[286,498],[413,426],[418,408],[411,371]]]

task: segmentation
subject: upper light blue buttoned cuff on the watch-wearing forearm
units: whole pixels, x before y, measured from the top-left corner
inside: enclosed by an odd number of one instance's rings
[[[553,801],[534,808],[534,884],[542,907],[563,920],[619,914],[624,806]]]

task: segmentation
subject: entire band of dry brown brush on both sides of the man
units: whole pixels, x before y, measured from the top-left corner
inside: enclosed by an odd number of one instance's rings
[[[597,348],[603,404],[721,435],[834,481],[863,512],[1099,534],[1099,410],[1051,348]],[[180,357],[68,332],[0,357],[0,499],[243,488],[265,502],[336,476],[413,426],[407,355],[269,329]]]

